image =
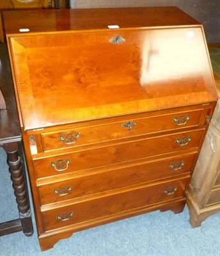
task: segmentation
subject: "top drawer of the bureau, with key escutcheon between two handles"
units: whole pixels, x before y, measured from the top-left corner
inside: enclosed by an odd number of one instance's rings
[[[186,127],[200,127],[205,122],[208,108],[191,108],[155,111],[121,118],[107,118],[81,124],[69,125],[68,129],[41,133],[43,151],[102,143],[104,141],[130,138],[153,132],[169,131]],[[48,131],[48,132],[47,132]]]

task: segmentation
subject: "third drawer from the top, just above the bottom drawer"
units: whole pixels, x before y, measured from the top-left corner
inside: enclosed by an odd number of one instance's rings
[[[41,205],[190,173],[195,157],[196,153],[193,153],[157,161],[140,161],[136,165],[105,168],[102,172],[87,172],[82,177],[44,184],[38,186]]]

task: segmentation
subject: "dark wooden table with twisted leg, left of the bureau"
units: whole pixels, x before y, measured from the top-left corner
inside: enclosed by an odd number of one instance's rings
[[[23,231],[26,236],[31,236],[33,234],[33,223],[29,207],[22,137],[6,44],[0,44],[0,86],[6,105],[6,109],[0,110],[0,147],[3,147],[7,154],[7,163],[19,210],[17,220],[0,223],[0,236],[19,231]],[[3,171],[0,171],[0,177]]]

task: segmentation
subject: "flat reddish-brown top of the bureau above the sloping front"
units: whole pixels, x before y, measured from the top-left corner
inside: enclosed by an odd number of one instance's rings
[[[200,24],[175,6],[148,8],[98,8],[61,10],[24,10],[3,12],[5,34],[153,26],[184,26]]]

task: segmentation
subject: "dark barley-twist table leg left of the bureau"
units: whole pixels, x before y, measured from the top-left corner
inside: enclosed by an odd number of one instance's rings
[[[3,148],[8,157],[8,166],[12,177],[13,189],[19,209],[20,224],[26,236],[33,234],[33,223],[29,207],[26,180],[22,170],[22,163],[19,156],[19,145],[17,142],[6,143]]]

